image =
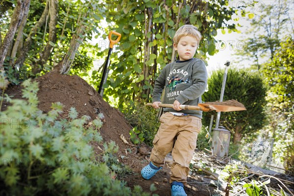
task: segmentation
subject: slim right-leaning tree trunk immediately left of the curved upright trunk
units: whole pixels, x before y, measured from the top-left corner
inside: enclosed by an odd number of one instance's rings
[[[41,26],[44,25],[45,21],[46,21],[46,16],[48,15],[48,11],[49,11],[49,3],[47,0],[46,3],[46,7],[42,13],[41,18],[39,19],[38,23],[36,23],[36,25],[31,29],[31,31],[29,32],[27,38],[25,39],[25,43],[23,46],[23,49],[21,50],[21,52],[18,54],[18,58],[15,62],[15,66],[18,67],[22,67],[24,62],[25,62],[25,58],[27,56],[27,52],[30,49],[30,46],[32,45],[33,39],[32,37],[35,36],[35,34],[37,33],[38,28],[41,28]]]

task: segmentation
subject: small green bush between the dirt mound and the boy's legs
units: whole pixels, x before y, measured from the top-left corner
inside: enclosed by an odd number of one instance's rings
[[[144,106],[144,103],[141,102],[130,101],[126,104],[123,113],[128,123],[134,127],[130,131],[134,144],[145,142],[152,146],[152,141],[160,125],[157,122],[157,112],[158,110]]]

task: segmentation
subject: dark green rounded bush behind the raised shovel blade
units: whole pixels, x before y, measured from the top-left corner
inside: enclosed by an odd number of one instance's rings
[[[202,96],[203,101],[219,100],[223,74],[223,70],[212,73],[208,79],[208,91]],[[232,141],[235,144],[240,143],[239,140],[244,134],[255,136],[257,130],[265,125],[265,105],[267,103],[265,96],[266,88],[259,73],[232,68],[228,70],[223,100],[235,99],[246,107],[244,111],[221,113],[220,125],[235,132],[232,134]],[[211,115],[217,116],[215,111],[203,112],[204,126],[209,126]]]

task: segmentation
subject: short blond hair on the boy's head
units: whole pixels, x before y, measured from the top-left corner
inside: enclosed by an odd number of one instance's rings
[[[173,37],[173,43],[178,44],[180,39],[184,36],[192,36],[197,40],[197,45],[202,38],[201,33],[197,30],[196,26],[193,25],[183,25],[175,32]]]

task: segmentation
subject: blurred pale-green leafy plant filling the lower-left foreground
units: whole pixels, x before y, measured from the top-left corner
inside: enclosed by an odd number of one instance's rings
[[[44,114],[37,108],[37,83],[24,84],[27,100],[10,99],[12,105],[0,112],[2,194],[149,195],[142,194],[141,187],[131,191],[125,182],[113,179],[107,163],[113,158],[109,154],[117,149],[114,143],[104,144],[104,155],[95,157],[89,142],[102,141],[100,119],[78,119],[74,108],[68,118],[60,119],[60,103],[53,103],[52,110]]]

